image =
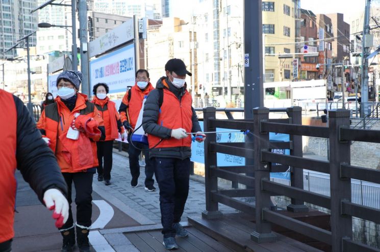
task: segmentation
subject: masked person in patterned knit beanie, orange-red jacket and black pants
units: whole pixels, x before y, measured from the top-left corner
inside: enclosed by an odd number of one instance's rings
[[[63,237],[61,251],[72,251],[77,243],[80,251],[90,251],[88,234],[92,214],[92,179],[98,166],[96,141],[105,139],[102,117],[87,96],[78,93],[82,73],[64,71],[57,77],[56,102],[46,106],[37,128],[56,155],[68,186],[69,217],[59,229]],[[71,187],[75,186],[77,222],[71,212]]]

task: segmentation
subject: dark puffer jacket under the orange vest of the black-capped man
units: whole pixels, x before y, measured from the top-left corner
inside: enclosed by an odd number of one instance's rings
[[[172,85],[170,80],[167,77],[161,77],[156,84],[156,89],[150,91],[148,97],[146,98],[144,104],[144,114],[142,118],[142,127],[144,131],[148,134],[156,135],[161,138],[170,138],[171,130],[166,127],[163,127],[157,123],[159,117],[160,110],[160,92],[159,89],[167,89],[162,80],[165,79],[166,83],[169,86],[169,91],[172,92],[180,101],[184,94],[184,90],[186,89],[186,84],[183,88],[179,89]],[[164,98],[165,99],[165,98]],[[193,127],[191,132],[200,131],[200,126],[198,122],[198,118],[196,116],[195,110],[191,107],[193,111],[193,115],[191,117],[191,121],[193,123]],[[175,120],[175,118],[173,118]],[[191,157],[191,148],[190,147],[171,147],[171,148],[155,148],[149,151],[149,157],[169,157],[169,158],[179,158],[185,159]]]

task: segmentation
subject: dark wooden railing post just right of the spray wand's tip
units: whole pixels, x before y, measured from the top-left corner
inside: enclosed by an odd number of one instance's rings
[[[263,220],[263,210],[270,209],[270,193],[262,190],[261,182],[269,181],[270,165],[261,161],[261,151],[269,149],[269,132],[261,131],[261,122],[269,119],[269,109],[254,108],[254,166],[255,166],[255,197],[256,197],[256,231],[251,233],[255,242],[272,242],[277,236],[272,232],[269,222]]]

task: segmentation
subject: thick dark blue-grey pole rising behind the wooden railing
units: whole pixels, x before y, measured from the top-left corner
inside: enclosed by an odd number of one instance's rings
[[[244,0],[244,118],[264,106],[262,1]]]

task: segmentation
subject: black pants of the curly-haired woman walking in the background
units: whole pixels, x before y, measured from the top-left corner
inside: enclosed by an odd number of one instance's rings
[[[98,176],[103,176],[104,179],[111,179],[112,170],[112,148],[113,140],[96,142],[97,160],[99,166],[96,167]]]

